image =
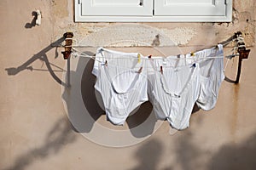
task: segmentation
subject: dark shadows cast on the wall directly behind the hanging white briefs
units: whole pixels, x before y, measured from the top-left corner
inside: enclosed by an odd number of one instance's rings
[[[92,55],[91,52],[84,52]],[[102,104],[102,97],[95,88],[96,77],[91,74],[94,60],[87,58],[79,58],[75,71],[70,71],[71,87],[64,87],[62,99],[67,104],[67,113],[70,122],[79,133],[90,133],[94,123],[105,114]],[[79,101],[81,93],[82,103]],[[100,103],[100,104],[99,104]],[[135,113],[131,114],[126,120],[133,136],[143,138],[154,132],[154,122],[152,121],[147,130],[142,132],[133,131],[134,127],[141,125],[152,113],[153,107],[149,102],[145,102],[139,108],[135,109]],[[92,119],[92,121],[89,121]]]

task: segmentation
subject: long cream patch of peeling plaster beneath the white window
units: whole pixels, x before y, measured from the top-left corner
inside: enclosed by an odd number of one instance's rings
[[[92,33],[90,33],[92,32]],[[172,30],[158,29],[143,24],[123,24],[103,27],[86,27],[84,37],[78,37],[84,46],[175,46],[184,45],[196,35],[195,29],[179,27]],[[155,36],[156,35],[156,36]]]

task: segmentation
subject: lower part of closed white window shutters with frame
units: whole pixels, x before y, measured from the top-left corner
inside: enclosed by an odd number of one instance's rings
[[[75,0],[76,22],[230,22],[232,0]]]

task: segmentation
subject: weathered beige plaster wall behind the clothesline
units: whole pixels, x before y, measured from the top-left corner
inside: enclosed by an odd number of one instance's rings
[[[232,23],[140,23],[134,28],[134,23],[125,26],[120,23],[74,23],[73,1],[0,1],[0,168],[255,169],[255,1],[235,0],[233,6]],[[32,12],[36,9],[43,14],[41,26],[33,26]],[[241,83],[224,82],[216,107],[212,111],[195,112],[188,129],[170,135],[169,125],[164,122],[143,142],[112,148],[84,138],[67,118],[73,113],[66,113],[61,100],[66,61],[60,53],[62,48],[50,46],[66,31],[73,31],[75,45],[112,45],[119,50],[143,54],[158,52],[150,47],[120,48],[129,46],[122,40],[127,39],[125,36],[131,35],[131,31],[136,32],[129,37],[132,46],[152,44],[155,36],[160,34],[160,46],[173,45],[174,42],[183,52],[211,47],[235,31],[242,31],[252,52],[249,59],[243,61]],[[141,31],[150,33],[143,35]],[[112,44],[113,39],[119,41]],[[134,43],[137,39],[140,43]],[[83,50],[94,53],[95,49]],[[166,50],[166,47],[160,47],[160,50]],[[84,77],[82,81],[85,84],[88,81],[84,89],[88,93],[88,89],[93,89],[95,78],[90,76],[91,61],[84,62],[88,69],[84,74],[88,79]],[[231,76],[234,71],[232,62],[227,69]],[[79,76],[76,74],[73,72],[72,76]],[[75,78],[72,86],[78,85]],[[91,100],[84,98],[88,105],[92,105],[90,111],[98,114],[101,109],[90,103],[95,101],[95,94],[88,95]],[[151,111],[150,108],[146,105],[145,112]],[[102,126],[129,130],[129,124],[113,127],[105,121],[105,116],[96,118]],[[95,125],[90,126],[89,129]],[[103,133],[97,135],[99,138],[104,136]],[[148,134],[143,137],[133,135],[140,139]]]

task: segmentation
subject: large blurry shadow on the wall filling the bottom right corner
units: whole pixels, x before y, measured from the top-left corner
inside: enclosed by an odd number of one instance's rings
[[[256,169],[256,134],[241,144],[226,144],[212,156],[207,150],[202,150],[200,144],[193,141],[193,133],[185,131],[177,139],[174,153],[176,162],[183,170],[210,169],[210,170],[240,170]],[[207,167],[204,165],[207,157]]]

